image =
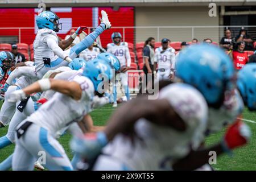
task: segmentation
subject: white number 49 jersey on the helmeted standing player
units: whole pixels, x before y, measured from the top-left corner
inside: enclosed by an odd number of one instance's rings
[[[114,43],[109,43],[107,45],[107,48],[108,48],[107,52],[117,56],[118,60],[120,61],[121,67],[123,66],[130,67],[131,56],[130,56],[127,42],[121,42],[119,46]]]

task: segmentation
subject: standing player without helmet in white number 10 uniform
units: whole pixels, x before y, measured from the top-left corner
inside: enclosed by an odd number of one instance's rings
[[[170,40],[162,39],[162,47],[155,49],[155,63],[158,65],[158,80],[168,80],[174,75],[175,68],[175,49],[169,47]],[[154,69],[155,70],[155,69]]]

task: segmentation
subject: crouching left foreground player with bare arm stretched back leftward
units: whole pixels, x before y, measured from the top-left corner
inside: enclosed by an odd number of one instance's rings
[[[104,81],[108,81],[112,75],[110,65],[103,60],[91,61],[86,63],[82,75],[75,75],[69,81],[43,79],[10,94],[9,101],[16,102],[35,92],[48,89],[59,92],[17,127],[14,170],[32,170],[39,151],[46,152],[48,169],[72,170],[63,147],[55,139],[56,133],[73,122],[81,121],[92,109],[94,91],[98,91],[102,82],[98,80],[101,73],[104,73]]]

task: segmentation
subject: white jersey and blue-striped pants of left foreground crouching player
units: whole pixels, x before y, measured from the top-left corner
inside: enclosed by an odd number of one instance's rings
[[[13,157],[14,170],[32,169],[39,151],[46,152],[48,169],[72,170],[68,156],[55,139],[56,133],[71,123],[80,121],[91,110],[94,86],[92,81],[84,76],[74,76],[71,81],[76,81],[81,86],[80,100],[76,101],[64,94],[55,93],[51,100],[18,125]],[[22,133],[23,127],[28,122],[32,124],[27,128],[26,133]],[[19,131],[23,135],[18,139]]]

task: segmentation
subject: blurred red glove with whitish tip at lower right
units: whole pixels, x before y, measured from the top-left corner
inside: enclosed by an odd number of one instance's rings
[[[225,152],[232,154],[233,148],[245,145],[250,137],[250,127],[242,121],[237,121],[228,128],[221,144]]]

